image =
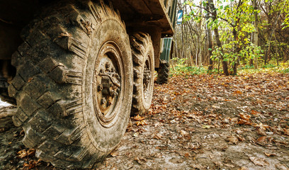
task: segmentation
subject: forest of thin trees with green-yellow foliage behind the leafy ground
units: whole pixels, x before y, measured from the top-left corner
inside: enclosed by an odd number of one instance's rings
[[[238,69],[288,67],[288,0],[179,1],[171,66],[208,67],[236,75]],[[286,70],[285,70],[286,72]],[[287,69],[288,72],[288,69]]]

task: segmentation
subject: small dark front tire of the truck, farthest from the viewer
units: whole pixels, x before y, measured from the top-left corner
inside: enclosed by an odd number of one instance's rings
[[[169,62],[161,60],[157,74],[157,84],[167,84],[169,81]]]

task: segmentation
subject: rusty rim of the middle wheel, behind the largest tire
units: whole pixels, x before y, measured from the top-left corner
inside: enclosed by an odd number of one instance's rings
[[[147,99],[149,97],[149,91],[151,89],[152,84],[152,67],[151,67],[151,60],[149,55],[147,56],[147,60],[145,60],[145,67],[144,67],[144,77],[142,79],[142,86],[144,90],[144,98]]]

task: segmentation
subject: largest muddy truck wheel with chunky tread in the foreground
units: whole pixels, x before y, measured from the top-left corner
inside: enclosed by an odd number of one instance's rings
[[[13,123],[53,166],[90,169],[118,145],[130,117],[132,57],[118,12],[103,1],[58,1],[21,33],[13,54]]]

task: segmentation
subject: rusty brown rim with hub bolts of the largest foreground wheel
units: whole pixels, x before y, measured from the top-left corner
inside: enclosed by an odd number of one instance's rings
[[[122,53],[115,42],[102,45],[94,69],[94,110],[101,125],[109,128],[115,123],[123,96]]]

